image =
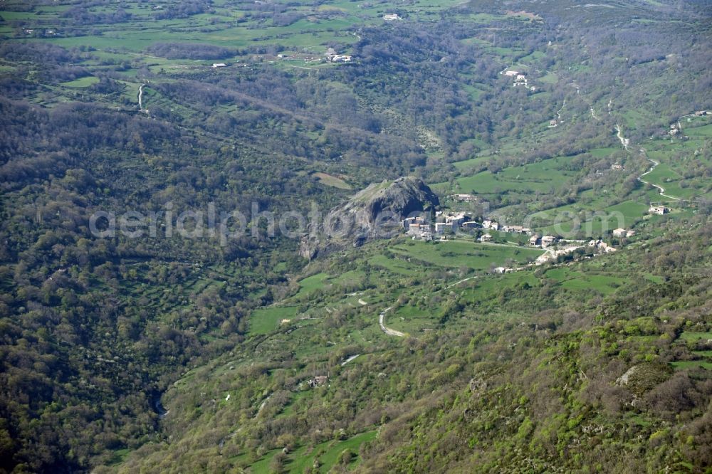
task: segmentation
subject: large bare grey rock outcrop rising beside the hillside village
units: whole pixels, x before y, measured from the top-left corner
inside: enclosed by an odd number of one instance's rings
[[[410,214],[439,205],[438,196],[421,180],[404,177],[368,186],[344,205],[332,209],[319,228],[310,228],[299,253],[314,258],[318,253],[360,246],[375,238],[389,238],[400,231],[400,221]]]

